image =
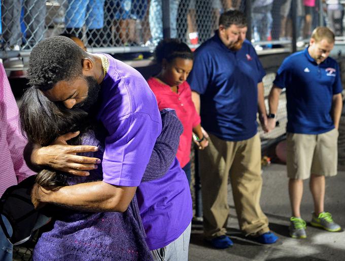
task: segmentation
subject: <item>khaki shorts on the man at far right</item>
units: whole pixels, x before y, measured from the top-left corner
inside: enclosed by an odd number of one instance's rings
[[[337,173],[338,130],[318,135],[287,133],[288,178],[305,180],[310,173],[331,177]]]

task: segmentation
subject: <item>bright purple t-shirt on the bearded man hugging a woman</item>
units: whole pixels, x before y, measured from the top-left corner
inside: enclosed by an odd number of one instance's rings
[[[160,179],[141,183],[162,128],[156,98],[144,77],[107,55],[108,73],[101,83],[97,115],[108,134],[103,181],[137,187],[136,195],[150,250],[177,239],[192,219],[192,199],[184,171],[175,158]]]

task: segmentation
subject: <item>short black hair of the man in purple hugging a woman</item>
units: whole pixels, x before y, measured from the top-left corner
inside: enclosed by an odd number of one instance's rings
[[[82,59],[87,53],[65,36],[53,36],[39,42],[31,51],[27,77],[29,85],[50,90],[60,80],[82,75]]]

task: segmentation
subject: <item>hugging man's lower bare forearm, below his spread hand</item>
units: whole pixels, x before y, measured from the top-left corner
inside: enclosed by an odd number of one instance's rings
[[[31,201],[35,207],[52,203],[81,211],[124,212],[135,190],[136,187],[114,186],[102,181],[65,186],[58,190],[47,190],[36,184],[31,191]]]

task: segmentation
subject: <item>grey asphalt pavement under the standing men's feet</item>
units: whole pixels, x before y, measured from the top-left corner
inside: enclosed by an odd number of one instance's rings
[[[227,234],[234,245],[221,250],[212,248],[203,240],[202,224],[195,222],[192,225],[189,260],[345,260],[345,232],[331,233],[308,224],[313,212],[308,180],[304,181],[301,205],[302,218],[307,222],[307,238],[293,239],[288,232],[291,211],[286,165],[265,166],[262,177],[261,207],[268,217],[271,231],[279,236],[277,243],[262,245],[246,239],[241,234],[229,186],[230,219]],[[331,212],[334,221],[345,229],[344,195],[345,171],[339,171],[337,176],[326,179],[325,211]]]

